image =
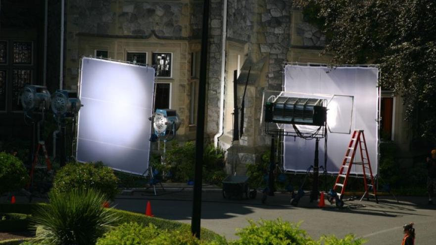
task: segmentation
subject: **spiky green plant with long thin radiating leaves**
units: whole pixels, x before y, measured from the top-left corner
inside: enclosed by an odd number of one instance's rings
[[[94,189],[51,191],[50,203],[36,210],[37,239],[52,245],[95,244],[116,216],[103,208],[104,195]]]

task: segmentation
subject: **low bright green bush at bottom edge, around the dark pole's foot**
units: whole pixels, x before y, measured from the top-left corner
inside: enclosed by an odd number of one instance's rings
[[[124,223],[98,239],[96,245],[206,245],[191,233],[178,230],[158,229],[153,224],[147,226],[135,222]],[[218,245],[218,244],[217,244]]]

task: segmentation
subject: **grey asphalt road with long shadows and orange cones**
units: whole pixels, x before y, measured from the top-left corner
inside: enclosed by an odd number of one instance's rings
[[[114,202],[117,208],[144,213],[146,202],[151,202],[156,217],[191,223],[192,191],[159,190],[157,196],[152,192],[134,192],[120,195]],[[347,197],[346,197],[347,198]],[[298,206],[290,205],[289,194],[276,194],[261,204],[261,194],[255,200],[226,200],[219,191],[202,193],[201,226],[225,236],[238,239],[237,228],[248,225],[247,220],[276,219],[301,223],[308,235],[318,239],[323,234],[343,237],[353,233],[365,238],[368,245],[401,244],[402,225],[413,221],[416,228],[417,245],[436,244],[436,205],[427,205],[424,197],[379,198],[374,201],[346,201],[343,208],[336,208],[326,201],[324,208],[310,203],[304,197]]]

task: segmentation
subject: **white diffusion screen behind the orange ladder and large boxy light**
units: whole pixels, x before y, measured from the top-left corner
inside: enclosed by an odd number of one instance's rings
[[[327,170],[339,172],[345,151],[355,129],[363,129],[373,174],[378,169],[378,68],[375,67],[311,67],[287,65],[285,91],[335,95],[328,102]],[[314,163],[315,140],[285,137],[284,168],[306,171]],[[355,158],[360,162],[360,153]],[[324,139],[319,144],[319,165],[325,161]],[[362,165],[353,165],[351,173],[361,174]]]

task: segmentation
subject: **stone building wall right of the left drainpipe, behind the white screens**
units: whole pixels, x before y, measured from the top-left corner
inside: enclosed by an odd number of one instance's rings
[[[326,37],[303,21],[291,1],[227,0],[223,17],[224,1],[210,0],[206,135],[213,141],[220,131],[224,80],[223,134],[217,136],[219,146],[228,153],[228,171],[234,172],[235,163],[257,162],[269,147],[260,125],[262,95],[264,90],[282,89],[283,62],[329,63],[330,56],[319,55]],[[130,53],[145,53],[143,62],[152,64],[153,54],[171,54],[171,76],[157,77],[156,82],[169,84],[169,107],[182,118],[179,139],[194,139],[202,4],[201,0],[68,0],[65,86],[77,88],[82,56],[99,52],[128,61]],[[245,96],[244,134],[232,141],[233,71],[240,75],[236,92],[241,105],[248,67],[252,70]]]

